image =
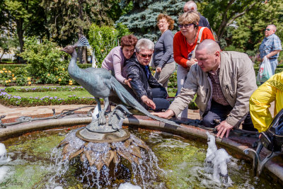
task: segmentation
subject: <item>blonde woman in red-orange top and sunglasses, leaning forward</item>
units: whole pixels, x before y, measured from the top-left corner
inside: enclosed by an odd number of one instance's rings
[[[178,18],[180,31],[173,38],[174,60],[179,64],[177,69],[178,93],[185,84],[190,67],[197,62],[194,53],[195,47],[202,40],[214,40],[209,28],[199,26],[199,21],[200,15],[197,11],[188,11]],[[187,108],[178,117],[187,118]]]

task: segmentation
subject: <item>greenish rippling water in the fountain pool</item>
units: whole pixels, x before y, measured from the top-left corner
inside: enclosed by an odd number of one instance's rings
[[[87,174],[77,156],[71,161],[62,160],[62,148],[57,144],[67,134],[76,132],[78,127],[64,127],[40,132],[30,132],[3,141],[12,161],[1,165],[9,168],[8,175],[0,182],[0,188],[98,188],[99,178],[94,175],[96,166],[89,166],[93,172]],[[75,130],[74,130],[75,129]],[[164,132],[148,132],[128,129],[137,138],[146,142],[151,149],[141,148],[140,165],[130,164],[121,158],[117,165],[116,179],[112,179],[115,164],[103,166],[100,176],[105,173],[108,183],[100,188],[118,188],[120,183],[132,183],[141,188],[221,188],[227,184],[216,182],[213,168],[207,173],[203,165],[206,159],[207,144],[202,140],[191,140]],[[51,153],[51,154],[50,154]],[[229,154],[232,151],[229,151]],[[120,167],[119,165],[123,165]],[[160,168],[159,168],[160,167]],[[228,164],[229,177],[233,188],[279,188],[274,182],[266,180],[266,174],[259,178],[251,176],[251,165],[244,160],[231,159]],[[119,172],[120,171],[120,172]],[[107,175],[106,173],[109,173]],[[125,176],[122,176],[122,175]],[[239,177],[239,175],[241,177]],[[100,177],[101,178],[101,177]],[[96,182],[96,183],[94,183]],[[143,183],[144,182],[144,183]],[[89,185],[89,186],[88,186]],[[97,185],[97,187],[95,187]],[[105,187],[104,187],[105,185]]]

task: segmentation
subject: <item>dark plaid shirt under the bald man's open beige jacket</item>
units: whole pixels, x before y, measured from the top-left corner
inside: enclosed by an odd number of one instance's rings
[[[212,80],[212,99],[221,105],[229,105],[229,103],[226,101],[226,98],[223,95],[220,81],[219,81],[219,71],[220,71],[220,65],[218,69],[216,69],[216,73],[212,73],[212,71],[209,71],[208,76]]]

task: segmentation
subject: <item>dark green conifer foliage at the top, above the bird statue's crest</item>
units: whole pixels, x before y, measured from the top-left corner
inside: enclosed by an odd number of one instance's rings
[[[116,1],[42,1],[52,39],[59,45],[66,46],[76,42],[78,34],[86,35],[91,23],[112,25],[113,21],[108,17],[108,11]]]

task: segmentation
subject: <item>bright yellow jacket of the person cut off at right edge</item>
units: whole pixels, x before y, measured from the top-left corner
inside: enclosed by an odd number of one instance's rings
[[[250,116],[258,132],[266,131],[273,120],[268,109],[273,101],[277,115],[283,108],[283,71],[268,79],[250,96]]]

